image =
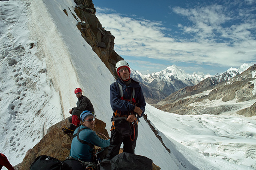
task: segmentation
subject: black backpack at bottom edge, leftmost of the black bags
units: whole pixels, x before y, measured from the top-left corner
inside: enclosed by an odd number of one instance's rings
[[[72,168],[56,158],[41,155],[32,162],[30,170],[72,170]]]

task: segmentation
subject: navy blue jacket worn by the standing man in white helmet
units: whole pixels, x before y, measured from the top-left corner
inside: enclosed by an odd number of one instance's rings
[[[126,84],[120,78],[118,78],[116,82],[110,85],[110,104],[113,111],[115,112],[117,110],[118,113],[122,115],[129,115],[129,111],[133,111],[135,108],[135,105],[131,104],[129,101],[120,99],[122,96],[120,94],[120,88],[118,83],[122,85],[124,99],[130,100],[132,96],[132,90],[133,88],[135,88],[134,99],[136,100],[136,106],[142,109],[142,114],[140,116],[142,117],[145,111],[146,102],[139,82],[136,82],[132,78],[129,86],[126,86]]]

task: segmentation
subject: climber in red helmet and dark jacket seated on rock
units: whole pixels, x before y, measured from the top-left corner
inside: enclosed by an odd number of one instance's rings
[[[65,133],[74,133],[74,130],[77,128],[77,126],[80,123],[79,117],[82,111],[89,110],[94,114],[93,105],[90,99],[82,95],[82,89],[76,88],[75,95],[78,98],[78,101],[76,102],[77,107],[73,107],[72,109],[69,110],[69,113],[72,114],[72,121],[71,121],[70,127],[65,127],[63,129]]]

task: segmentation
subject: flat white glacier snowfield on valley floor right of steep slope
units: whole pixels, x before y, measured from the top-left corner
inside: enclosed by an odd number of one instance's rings
[[[177,141],[195,151],[185,157],[193,159],[191,163],[196,167],[199,166],[193,163],[196,162],[193,156],[199,153],[214,158],[214,161],[226,160],[256,168],[256,121],[225,115],[176,115],[152,106],[148,106],[147,111],[154,126],[170,141]]]

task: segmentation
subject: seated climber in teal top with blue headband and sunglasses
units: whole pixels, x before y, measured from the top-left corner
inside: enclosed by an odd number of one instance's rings
[[[97,154],[97,158],[103,160],[108,152],[107,147],[109,147],[110,141],[101,139],[95,131],[92,131],[95,124],[95,115],[91,111],[83,111],[80,120],[82,125],[74,131],[70,156],[84,162],[96,163],[96,160],[94,160],[94,154],[96,154],[94,145],[96,145],[105,148],[102,149],[103,151],[100,154]]]

